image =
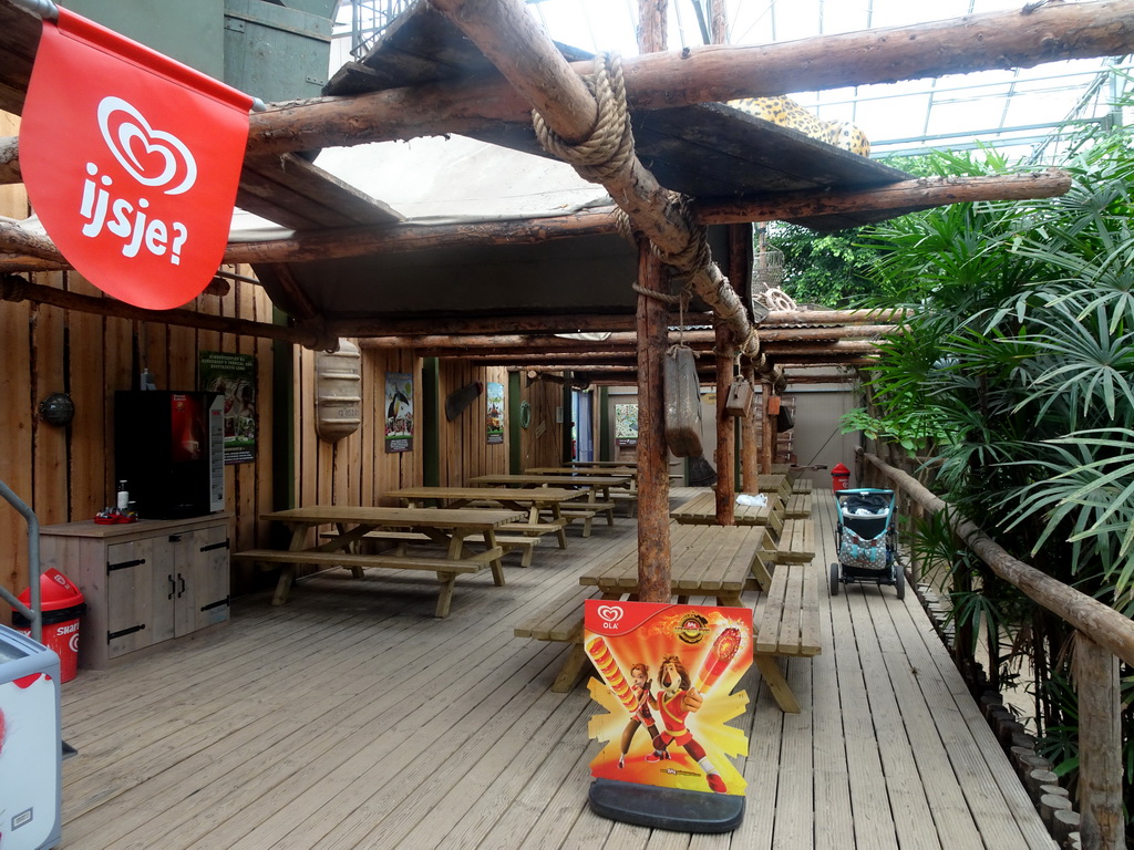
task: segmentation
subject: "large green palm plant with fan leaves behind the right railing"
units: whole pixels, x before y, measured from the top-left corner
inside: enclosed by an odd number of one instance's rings
[[[939,163],[951,173],[1001,164]],[[1001,545],[1125,610],[1134,607],[1134,152],[1124,135],[1093,138],[1065,168],[1073,188],[1060,198],[955,205],[872,231],[883,246],[880,288],[913,314],[872,371],[870,418],[877,433],[934,456],[946,500]],[[998,583],[982,575],[957,597],[958,629],[965,619],[1006,621],[1001,603],[1031,617]],[[1048,685],[1061,661],[1048,660],[1066,657],[1068,629],[1046,613],[1033,624],[1038,720],[1064,737],[1076,719]]]

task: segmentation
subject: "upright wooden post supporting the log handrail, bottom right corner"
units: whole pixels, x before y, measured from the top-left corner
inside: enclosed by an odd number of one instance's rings
[[[1078,691],[1078,806],[1082,845],[1123,850],[1122,699],[1118,658],[1075,632]]]

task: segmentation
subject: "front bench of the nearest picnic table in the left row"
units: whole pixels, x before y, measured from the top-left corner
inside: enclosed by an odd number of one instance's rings
[[[256,563],[260,569],[272,569],[277,564],[295,567],[311,564],[314,567],[344,567],[356,577],[362,570],[371,567],[384,567],[396,570],[428,570],[437,572],[441,585],[437,601],[437,617],[448,617],[452,605],[452,588],[458,575],[480,572],[485,568],[492,570],[496,584],[503,587],[503,570],[500,569],[500,558],[503,550],[500,546],[476,552],[467,558],[452,560],[448,558],[407,558],[395,554],[358,554],[354,552],[287,552],[274,549],[249,549],[235,552],[232,558],[239,561]],[[287,600],[288,585],[277,587],[273,605],[281,605]],[[277,601],[277,598],[279,601]]]

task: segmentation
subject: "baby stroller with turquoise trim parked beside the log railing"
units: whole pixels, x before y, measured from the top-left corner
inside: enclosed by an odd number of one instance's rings
[[[906,595],[906,575],[898,563],[898,518],[892,490],[858,487],[835,492],[838,525],[831,564],[831,596],[839,584],[873,581],[894,585],[898,598]]]

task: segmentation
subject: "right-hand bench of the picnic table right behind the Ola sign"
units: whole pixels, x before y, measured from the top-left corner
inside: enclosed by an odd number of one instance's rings
[[[810,563],[780,563],[753,620],[753,661],[780,708],[799,713],[799,702],[776,656],[810,658],[822,651],[819,635],[819,570]]]

